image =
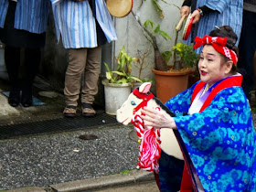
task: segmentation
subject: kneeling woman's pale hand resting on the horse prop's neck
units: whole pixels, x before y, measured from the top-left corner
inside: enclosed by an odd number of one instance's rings
[[[150,109],[148,107],[144,107],[142,112],[145,114],[141,116],[144,120],[145,127],[176,129],[174,119],[166,112]]]

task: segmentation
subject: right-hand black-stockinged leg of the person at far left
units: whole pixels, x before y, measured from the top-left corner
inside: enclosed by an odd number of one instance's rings
[[[25,48],[25,66],[22,80],[21,104],[29,107],[32,104],[32,84],[40,64],[40,48]]]

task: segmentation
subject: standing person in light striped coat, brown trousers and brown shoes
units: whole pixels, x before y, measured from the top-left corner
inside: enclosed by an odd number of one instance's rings
[[[51,3],[57,39],[61,37],[64,48],[69,50],[64,116],[76,115],[79,98],[82,115],[93,116],[96,112],[91,105],[98,92],[101,46],[117,39],[112,17],[105,0],[51,0]]]

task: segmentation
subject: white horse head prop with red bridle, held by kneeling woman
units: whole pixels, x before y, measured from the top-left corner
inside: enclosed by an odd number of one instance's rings
[[[116,120],[119,123],[127,125],[131,123],[133,116],[141,115],[141,110],[144,106],[149,108],[166,112],[171,116],[174,113],[170,112],[168,108],[150,92],[151,83],[144,82],[139,88],[134,89],[129,95],[128,99],[123,102],[123,105],[116,113]],[[162,128],[160,130],[161,148],[168,155],[173,155],[178,159],[183,159],[179,144],[176,141],[176,136],[170,129]]]

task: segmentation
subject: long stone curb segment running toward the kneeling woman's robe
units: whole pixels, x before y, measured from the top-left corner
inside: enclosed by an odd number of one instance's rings
[[[101,176],[80,181],[72,181],[57,185],[51,185],[53,191],[74,192],[100,189],[102,187],[114,187],[122,185],[133,185],[140,182],[152,181],[155,176],[152,172],[143,170],[132,170],[128,174],[117,174],[111,176]]]

